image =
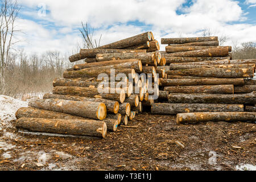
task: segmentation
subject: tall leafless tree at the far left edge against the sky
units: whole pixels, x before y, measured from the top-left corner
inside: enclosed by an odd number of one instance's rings
[[[18,16],[20,6],[17,1],[12,0],[0,0],[0,85],[1,88],[5,85],[5,70],[13,60],[11,55],[11,49],[16,42],[13,42],[13,36],[15,32],[14,23]]]

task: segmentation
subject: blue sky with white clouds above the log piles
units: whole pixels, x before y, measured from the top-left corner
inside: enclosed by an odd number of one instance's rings
[[[81,22],[101,45],[152,31],[156,40],[228,36],[224,46],[256,42],[256,0],[18,0],[16,46],[28,53],[79,52]],[[164,50],[166,45],[160,49]]]

